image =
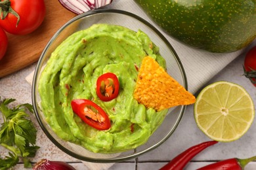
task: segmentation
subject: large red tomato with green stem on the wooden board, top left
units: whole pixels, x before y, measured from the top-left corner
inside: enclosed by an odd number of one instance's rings
[[[17,24],[18,18],[11,12],[7,16],[0,20],[0,25],[5,31],[15,35],[26,35],[35,31],[39,25],[42,24],[45,18],[45,2],[44,0],[4,0],[6,5],[11,4],[12,10],[14,10],[20,21]],[[2,1],[3,2],[3,1]],[[10,5],[9,4],[9,5]],[[2,8],[2,11],[4,9]],[[4,11],[3,11],[4,12]]]

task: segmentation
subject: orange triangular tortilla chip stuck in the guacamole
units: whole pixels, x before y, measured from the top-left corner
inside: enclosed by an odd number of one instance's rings
[[[186,91],[149,56],[142,60],[133,96],[146,108],[158,111],[196,102],[192,93]]]

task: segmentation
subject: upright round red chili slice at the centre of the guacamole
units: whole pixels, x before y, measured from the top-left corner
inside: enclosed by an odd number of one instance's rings
[[[98,77],[96,93],[102,101],[111,101],[119,93],[119,81],[114,73],[105,73]]]

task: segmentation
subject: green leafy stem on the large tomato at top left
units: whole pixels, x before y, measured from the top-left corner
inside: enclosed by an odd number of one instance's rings
[[[17,18],[16,27],[18,26],[18,23],[20,22],[20,16],[18,13],[12,9],[11,7],[11,1],[10,0],[4,0],[0,1],[0,18],[1,20],[5,20],[7,15],[11,13]]]

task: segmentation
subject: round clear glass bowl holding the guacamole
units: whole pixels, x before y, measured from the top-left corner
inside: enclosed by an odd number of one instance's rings
[[[50,58],[51,53],[62,41],[64,41],[64,39],[76,31],[87,29],[91,25],[99,23],[121,25],[134,31],[138,31],[139,29],[144,31],[156,46],[160,47],[160,54],[166,60],[167,72],[169,75],[173,76],[173,78],[184,86],[184,88],[187,89],[188,87],[182,63],[171,44],[158,29],[139,16],[123,10],[98,9],[80,14],[64,24],[44,48],[35,68],[32,86],[32,103],[33,109],[35,110],[35,116],[47,137],[49,137],[49,139],[66,154],[83,161],[111,163],[136,158],[141,154],[145,154],[157,146],[160,146],[160,144],[171,136],[179,125],[185,106],[169,109],[163,123],[156,129],[150,139],[148,139],[145,144],[127,152],[117,154],[97,154],[90,152],[81,146],[60,139],[53,132],[49,124],[47,124],[45,116],[40,109],[41,99],[38,92],[38,83],[41,72],[47,60]]]

